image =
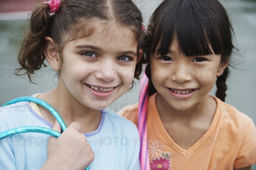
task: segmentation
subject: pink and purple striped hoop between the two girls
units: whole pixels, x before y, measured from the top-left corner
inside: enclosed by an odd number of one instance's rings
[[[150,170],[148,157],[148,133],[147,133],[147,104],[148,104],[148,77],[143,74],[140,83],[140,98],[138,108],[138,129],[140,133],[140,167],[142,170]]]

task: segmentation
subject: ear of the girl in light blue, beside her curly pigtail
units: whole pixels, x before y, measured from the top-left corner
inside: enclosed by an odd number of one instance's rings
[[[59,70],[61,65],[60,55],[57,46],[51,37],[45,37],[46,48],[44,49],[44,56],[47,59],[52,69]]]

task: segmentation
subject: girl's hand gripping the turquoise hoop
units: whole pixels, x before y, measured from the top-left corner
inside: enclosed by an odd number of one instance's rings
[[[42,170],[84,170],[89,166],[94,159],[94,153],[86,136],[79,132],[80,128],[79,122],[73,122],[58,138],[49,138],[47,161]],[[52,129],[61,132],[57,121]]]

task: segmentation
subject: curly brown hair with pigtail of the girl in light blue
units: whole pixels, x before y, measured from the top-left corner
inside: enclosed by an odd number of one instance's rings
[[[42,65],[46,66],[45,37],[51,37],[58,48],[62,49],[66,41],[63,40],[64,35],[72,35],[72,38],[78,36],[77,33],[84,28],[86,21],[95,17],[106,21],[114,19],[118,24],[131,28],[138,42],[139,55],[143,42],[143,18],[132,0],[62,0],[59,10],[54,14],[49,14],[47,4],[33,10],[29,20],[29,33],[18,54],[21,68],[16,69],[16,74],[26,74],[29,81],[34,83],[32,75]],[[25,73],[21,74],[21,70],[25,70]],[[134,77],[139,79],[141,71],[142,60],[136,65]]]

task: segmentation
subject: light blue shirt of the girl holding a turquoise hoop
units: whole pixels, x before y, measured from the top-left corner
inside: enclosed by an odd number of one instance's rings
[[[15,127],[52,124],[39,116],[29,102],[0,108],[0,132]],[[85,133],[95,154],[90,170],[139,170],[140,139],[136,125],[110,110],[103,110],[99,127]],[[41,169],[47,160],[49,135],[20,133],[0,140],[0,169]],[[56,141],[53,144],[58,144]]]

